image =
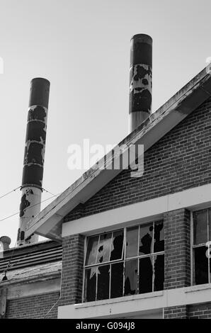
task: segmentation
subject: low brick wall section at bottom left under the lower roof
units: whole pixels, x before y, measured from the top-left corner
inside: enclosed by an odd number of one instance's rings
[[[46,293],[16,300],[8,300],[6,303],[6,318],[43,319],[47,312],[59,299],[59,293]],[[57,305],[50,311],[46,318],[57,318]]]

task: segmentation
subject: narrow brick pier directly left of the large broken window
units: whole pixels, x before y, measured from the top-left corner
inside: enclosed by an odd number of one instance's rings
[[[84,269],[84,236],[64,237],[62,288],[59,305],[81,303]]]

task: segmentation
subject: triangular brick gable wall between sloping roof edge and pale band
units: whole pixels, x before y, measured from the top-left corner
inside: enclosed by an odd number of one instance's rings
[[[144,154],[144,176],[122,171],[65,221],[211,183],[211,98]]]

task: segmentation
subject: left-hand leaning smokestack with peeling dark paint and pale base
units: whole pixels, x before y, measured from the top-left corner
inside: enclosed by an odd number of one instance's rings
[[[25,239],[25,227],[29,220],[40,213],[49,91],[50,82],[47,79],[39,77],[30,82],[18,246],[38,242],[38,235]]]

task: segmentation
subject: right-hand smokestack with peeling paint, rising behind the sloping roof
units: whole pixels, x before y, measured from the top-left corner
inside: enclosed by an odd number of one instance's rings
[[[152,112],[152,38],[134,35],[130,49],[129,132]]]

